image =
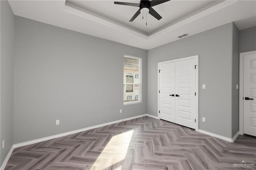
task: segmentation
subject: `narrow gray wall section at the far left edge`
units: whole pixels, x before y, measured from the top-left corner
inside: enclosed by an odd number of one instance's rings
[[[0,141],[1,165],[13,145],[14,14],[8,1],[0,1]],[[2,149],[2,140],[5,147]]]

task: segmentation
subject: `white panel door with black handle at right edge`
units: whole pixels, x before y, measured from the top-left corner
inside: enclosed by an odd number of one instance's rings
[[[244,133],[256,136],[256,53],[244,55]]]

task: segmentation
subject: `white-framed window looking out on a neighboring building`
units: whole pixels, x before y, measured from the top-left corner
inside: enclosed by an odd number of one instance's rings
[[[141,58],[124,56],[124,105],[141,102]]]

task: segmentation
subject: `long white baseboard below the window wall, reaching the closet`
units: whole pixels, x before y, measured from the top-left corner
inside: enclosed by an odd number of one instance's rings
[[[73,130],[73,131],[70,131],[70,132],[64,132],[64,133],[61,133],[61,134],[56,134],[56,135],[47,136],[47,137],[44,137],[44,138],[30,140],[30,141],[27,141],[27,142],[22,142],[22,143],[14,144],[13,146],[14,146],[14,148],[18,148],[18,147],[21,147],[21,146],[26,146],[26,145],[29,145],[29,144],[34,144],[34,143],[37,143],[37,142],[43,142],[43,141],[46,141],[46,140],[50,140],[50,139],[54,139],[54,138],[59,138],[59,137],[62,137],[62,136],[66,136],[66,135],[70,135],[70,134],[74,134],[74,133],[90,130],[90,129],[93,129],[93,128],[103,127],[103,126],[111,125],[111,124],[114,124],[114,123],[120,123],[122,121],[128,121],[128,120],[131,120],[131,119],[136,119],[136,118],[144,117],[144,116],[149,116],[149,117],[152,117],[152,118],[155,118],[155,119],[159,119],[156,116],[148,115],[148,114],[138,115],[138,116],[129,117],[129,118],[126,118],[126,119],[120,119],[118,121],[112,121],[112,122],[103,123],[103,124],[100,124],[100,125],[95,125],[95,126],[92,126],[92,127],[81,128],[81,129]]]

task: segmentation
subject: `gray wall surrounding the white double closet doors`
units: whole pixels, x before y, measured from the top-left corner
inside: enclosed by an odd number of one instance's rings
[[[148,50],[149,114],[158,115],[158,62],[199,55],[199,129],[233,137],[233,26],[233,23],[225,24]],[[202,89],[202,84],[206,84],[206,89]],[[202,117],[206,117],[206,123],[202,122]]]

